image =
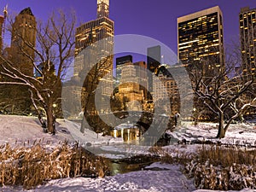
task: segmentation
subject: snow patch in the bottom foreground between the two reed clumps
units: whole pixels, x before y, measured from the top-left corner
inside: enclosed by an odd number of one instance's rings
[[[153,168],[155,166],[152,166]],[[160,166],[161,167],[161,166]],[[195,187],[179,171],[178,166],[164,165],[164,171],[139,171],[105,178],[65,178],[52,180],[31,191],[193,191]],[[10,189],[10,188],[7,188]],[[18,191],[12,190],[12,191]]]

